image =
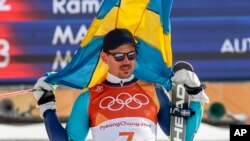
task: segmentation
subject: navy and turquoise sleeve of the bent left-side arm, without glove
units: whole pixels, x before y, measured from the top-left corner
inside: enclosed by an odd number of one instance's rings
[[[44,123],[50,141],[85,140],[89,130],[89,92],[78,96],[67,120],[66,129],[57,118],[55,110],[44,113]]]

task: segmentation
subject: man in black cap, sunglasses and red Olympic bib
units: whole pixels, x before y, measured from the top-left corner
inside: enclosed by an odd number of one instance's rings
[[[158,84],[143,82],[134,77],[136,57],[136,42],[127,29],[114,29],[107,33],[100,53],[100,58],[109,67],[107,78],[77,98],[66,129],[55,113],[53,87],[44,82],[46,77],[40,78],[34,86],[37,89],[34,96],[38,100],[50,140],[82,141],[91,129],[94,141],[155,141],[157,123],[169,136],[168,93]],[[185,78],[189,87],[196,87],[193,85],[200,83],[199,79],[192,80],[186,74],[184,70],[172,78],[176,82]],[[202,90],[191,104],[204,102],[199,98],[204,96]],[[193,110],[199,113],[201,108],[199,106]],[[200,119],[200,114],[193,117],[193,126],[199,126]],[[197,130],[190,129],[188,139],[192,140]]]

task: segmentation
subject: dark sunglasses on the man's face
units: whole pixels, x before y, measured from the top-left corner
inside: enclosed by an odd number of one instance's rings
[[[135,60],[136,58],[136,52],[130,51],[128,53],[111,53],[107,52],[108,54],[112,55],[117,62],[121,62],[125,59],[125,56],[128,57],[128,60]]]

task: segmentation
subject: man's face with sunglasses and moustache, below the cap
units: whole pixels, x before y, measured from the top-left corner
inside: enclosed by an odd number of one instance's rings
[[[122,79],[128,78],[135,67],[135,47],[131,44],[124,44],[108,53],[102,52],[101,58],[109,66],[111,74]]]

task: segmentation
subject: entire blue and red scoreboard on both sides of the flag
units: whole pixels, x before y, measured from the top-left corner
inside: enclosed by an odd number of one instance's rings
[[[0,1],[0,84],[34,83],[71,60],[101,0]],[[175,0],[174,61],[202,81],[250,79],[249,0]]]

